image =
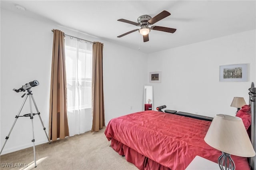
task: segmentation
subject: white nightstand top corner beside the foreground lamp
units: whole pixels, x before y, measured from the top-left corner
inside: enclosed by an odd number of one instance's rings
[[[219,165],[215,162],[196,156],[188,165],[186,170],[220,170]]]

